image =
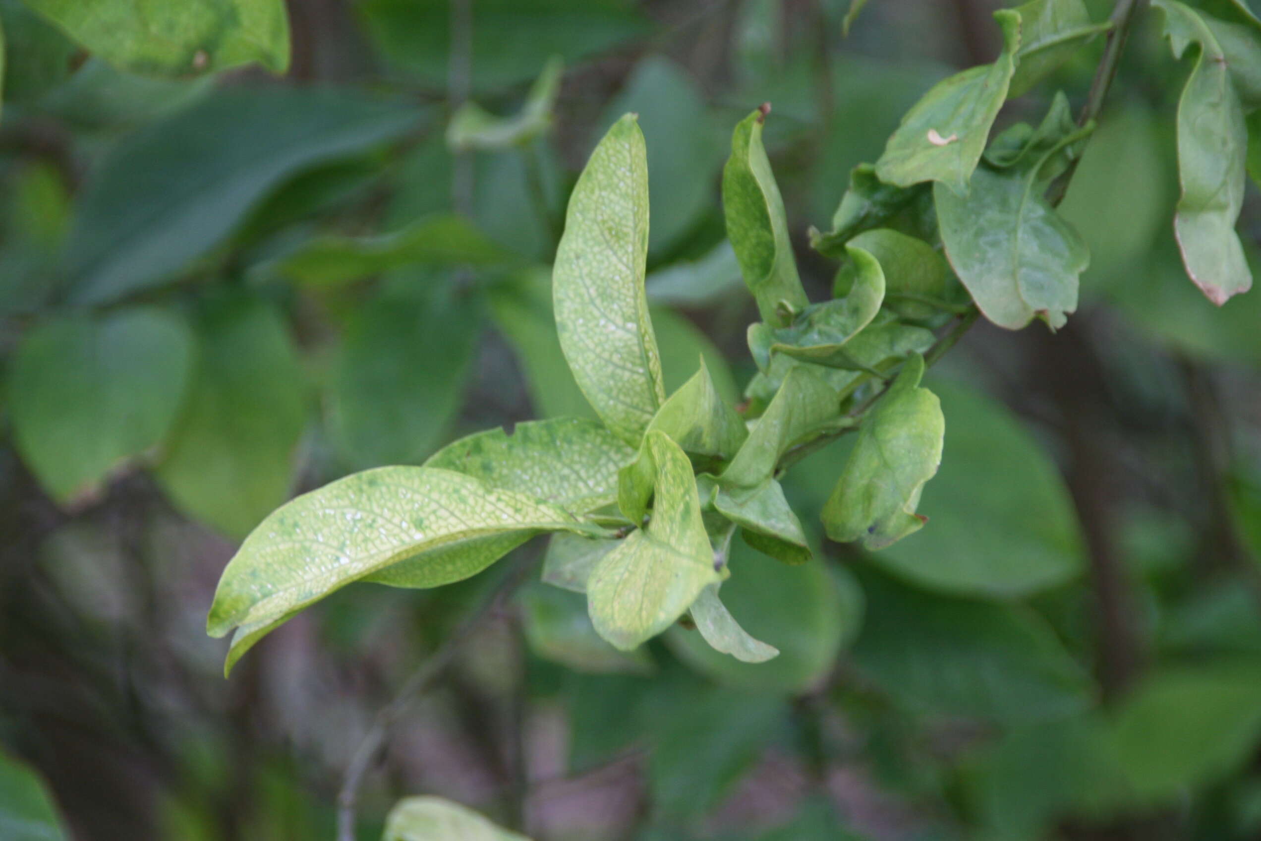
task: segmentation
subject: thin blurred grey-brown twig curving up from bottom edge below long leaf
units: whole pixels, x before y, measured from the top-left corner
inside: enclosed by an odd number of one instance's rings
[[[377,711],[372,726],[354,751],[337,796],[337,841],[354,841],[354,812],[359,799],[359,787],[368,773],[377,751],[385,744],[390,728],[407,711],[411,704],[443,676],[459,653],[460,644],[489,617],[496,615],[504,601],[525,583],[533,569],[533,556],[525,555],[504,576],[503,581],[477,606],[473,613],[443,642],[429,659],[411,673],[393,700]]]

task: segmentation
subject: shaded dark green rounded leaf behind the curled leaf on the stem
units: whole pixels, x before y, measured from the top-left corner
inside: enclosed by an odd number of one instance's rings
[[[864,231],[846,243],[846,250],[865,252],[879,264],[884,276],[884,305],[903,318],[924,320],[941,306],[957,303],[958,284],[950,264],[931,245],[892,228]],[[832,296],[850,295],[870,274],[868,261],[852,257],[836,272]]]

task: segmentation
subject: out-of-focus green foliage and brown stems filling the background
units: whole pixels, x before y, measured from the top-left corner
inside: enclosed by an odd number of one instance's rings
[[[773,105],[825,298],[807,227],[992,58],[999,5],[878,0],[846,39],[842,0],[293,0],[284,76],[170,77],[0,0],[0,836],[332,838],[372,716],[508,565],[339,593],[224,681],[203,622],[236,541],[348,472],[590,412],[549,262],[625,111],[667,390],[704,356],[738,400],[731,126]],[[1000,124],[1079,102],[1101,47]],[[620,654],[526,586],[391,730],[361,837],[412,793],[546,841],[1258,837],[1261,293],[1218,309],[1179,262],[1184,73],[1144,15],[1063,206],[1093,255],[1068,328],[981,327],[934,369],[928,527],[801,567],[738,550],[760,666],[682,627]],[[1255,188],[1241,233],[1255,260]],[[789,473],[807,526],[847,446]]]

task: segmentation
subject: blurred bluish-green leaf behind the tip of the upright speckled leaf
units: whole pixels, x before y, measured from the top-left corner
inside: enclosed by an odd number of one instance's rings
[[[662,253],[714,207],[712,175],[723,161],[721,148],[696,79],[658,53],[649,52],[636,66],[603,122],[623,113],[637,115],[648,139],[648,250]]]

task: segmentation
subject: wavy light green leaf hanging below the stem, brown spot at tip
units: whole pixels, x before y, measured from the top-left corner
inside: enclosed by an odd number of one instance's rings
[[[937,396],[919,386],[923,376],[923,357],[910,357],[863,420],[845,473],[823,506],[832,540],[884,548],[927,522],[915,506],[941,464],[946,419]]]

